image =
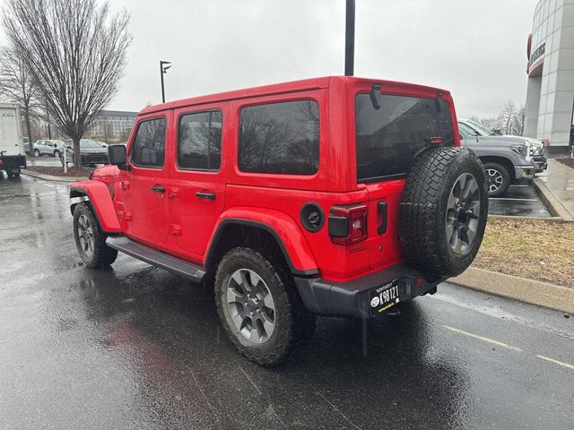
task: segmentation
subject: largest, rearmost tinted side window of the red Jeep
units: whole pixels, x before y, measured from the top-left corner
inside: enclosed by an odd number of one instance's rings
[[[319,108],[312,100],[244,107],[239,170],[313,175],[319,166]]]

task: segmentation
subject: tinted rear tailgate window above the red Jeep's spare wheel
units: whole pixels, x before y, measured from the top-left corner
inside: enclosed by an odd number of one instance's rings
[[[454,145],[450,110],[444,101],[439,104],[435,99],[381,95],[376,109],[369,94],[357,94],[357,180],[404,176],[422,150]]]

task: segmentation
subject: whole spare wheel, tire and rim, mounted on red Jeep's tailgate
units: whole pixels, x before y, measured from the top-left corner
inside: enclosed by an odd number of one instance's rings
[[[430,277],[457,276],[483,241],[488,192],[472,150],[423,151],[406,179],[400,241],[409,264]]]

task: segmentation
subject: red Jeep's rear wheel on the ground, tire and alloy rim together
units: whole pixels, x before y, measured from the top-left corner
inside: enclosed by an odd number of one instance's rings
[[[315,329],[291,273],[273,254],[247,247],[225,254],[215,275],[215,302],[231,342],[261,366],[282,362]]]

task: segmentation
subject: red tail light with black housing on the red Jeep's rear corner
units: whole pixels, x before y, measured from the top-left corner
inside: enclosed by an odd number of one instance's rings
[[[367,238],[367,206],[333,206],[329,215],[329,236],[338,245],[351,245]]]

